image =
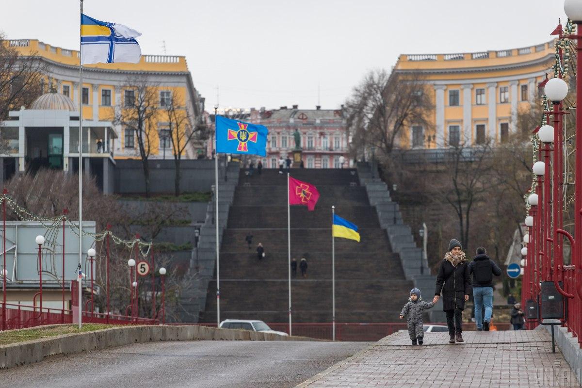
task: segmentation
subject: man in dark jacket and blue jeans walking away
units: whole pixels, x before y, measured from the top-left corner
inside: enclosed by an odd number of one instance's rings
[[[475,301],[475,323],[477,330],[489,331],[493,313],[493,275],[501,275],[501,268],[483,247],[477,248],[477,255],[469,263],[469,273],[473,274],[473,300]],[[485,305],[485,316],[482,314]]]

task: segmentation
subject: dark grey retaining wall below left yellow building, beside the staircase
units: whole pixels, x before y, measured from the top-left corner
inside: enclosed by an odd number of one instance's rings
[[[143,167],[138,160],[118,160],[115,166],[115,193],[145,193]],[[152,193],[173,193],[175,164],[171,160],[151,160],[150,183]],[[236,163],[229,163],[231,169]],[[180,191],[210,191],[214,184],[214,160],[183,160]],[[219,160],[219,183],[224,183],[224,161]]]

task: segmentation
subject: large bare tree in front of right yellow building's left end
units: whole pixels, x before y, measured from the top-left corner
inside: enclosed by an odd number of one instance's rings
[[[431,127],[434,109],[420,73],[368,73],[346,102],[347,127],[353,134],[353,150],[373,146],[384,155],[398,147],[404,130],[412,125]]]

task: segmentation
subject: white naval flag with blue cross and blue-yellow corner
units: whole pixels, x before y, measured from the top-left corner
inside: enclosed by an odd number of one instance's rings
[[[101,22],[81,14],[81,65],[89,63],[138,63],[141,34],[123,24]]]

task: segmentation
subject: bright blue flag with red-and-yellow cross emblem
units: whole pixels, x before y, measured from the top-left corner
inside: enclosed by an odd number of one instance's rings
[[[264,125],[216,116],[217,152],[267,156],[267,134]]]

